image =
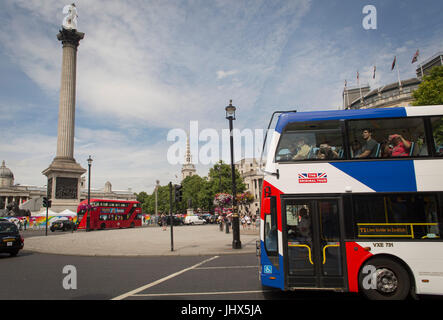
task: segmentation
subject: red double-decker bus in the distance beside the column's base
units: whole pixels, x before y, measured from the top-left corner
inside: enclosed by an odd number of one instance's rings
[[[90,199],[80,202],[77,208],[79,229],[133,228],[142,225],[142,209],[138,201]]]

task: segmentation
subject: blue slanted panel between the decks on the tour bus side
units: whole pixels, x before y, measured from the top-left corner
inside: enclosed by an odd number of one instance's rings
[[[330,164],[376,192],[417,191],[413,160],[335,162]]]

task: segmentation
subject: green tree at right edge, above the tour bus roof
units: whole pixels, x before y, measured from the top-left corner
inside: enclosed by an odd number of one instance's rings
[[[412,96],[414,106],[443,104],[443,66],[432,68]]]

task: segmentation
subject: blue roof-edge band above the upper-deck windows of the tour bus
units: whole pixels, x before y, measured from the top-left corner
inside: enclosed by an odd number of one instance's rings
[[[290,112],[279,116],[275,131],[281,133],[288,123],[303,121],[340,120],[340,119],[374,119],[407,117],[406,109],[376,108],[357,110],[330,110],[312,112]]]

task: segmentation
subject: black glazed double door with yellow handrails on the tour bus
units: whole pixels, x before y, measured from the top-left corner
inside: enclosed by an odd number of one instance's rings
[[[344,288],[340,199],[282,201],[286,287]]]

